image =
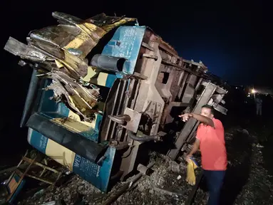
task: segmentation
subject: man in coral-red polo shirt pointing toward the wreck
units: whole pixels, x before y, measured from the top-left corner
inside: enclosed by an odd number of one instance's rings
[[[222,182],[227,169],[227,151],[225,148],[225,131],[220,120],[215,119],[213,107],[202,106],[200,115],[186,113],[180,115],[185,122],[189,117],[194,117],[201,124],[197,128],[195,144],[187,155],[192,157],[200,147],[202,156],[202,169],[210,191],[209,205],[219,204]]]

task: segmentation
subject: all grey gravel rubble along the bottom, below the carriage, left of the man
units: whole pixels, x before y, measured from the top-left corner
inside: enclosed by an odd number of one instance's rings
[[[164,155],[157,155],[154,171],[150,176],[142,177],[135,189],[125,192],[113,204],[182,204],[190,194],[192,186],[185,182],[186,166],[177,164]],[[200,169],[196,171],[196,174]],[[127,180],[130,182],[130,178]],[[19,204],[43,204],[62,199],[66,204],[75,204],[81,199],[83,203],[101,204],[120,189],[126,182],[116,184],[108,194],[101,193],[95,186],[78,176],[61,187],[49,186]]]

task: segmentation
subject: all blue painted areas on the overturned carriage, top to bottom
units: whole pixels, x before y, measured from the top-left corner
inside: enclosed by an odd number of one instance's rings
[[[102,54],[108,56],[115,56],[125,58],[126,61],[123,65],[121,73],[108,74],[105,82],[105,87],[111,88],[116,78],[123,78],[123,75],[133,74],[135,64],[138,60],[138,53],[140,51],[141,43],[145,33],[145,26],[120,26],[113,36],[113,38],[104,47]],[[51,83],[50,80],[46,81],[46,85]],[[70,110],[63,103],[54,102],[50,100],[53,96],[52,90],[43,90],[41,102],[38,112],[40,115],[48,117],[48,120],[57,117],[68,117]],[[89,140],[98,142],[98,132],[101,125],[102,115],[96,117],[95,128],[81,132],[80,134]],[[40,152],[46,154],[46,147],[48,146],[48,138],[41,135],[39,132],[33,131],[31,133],[30,144]],[[61,145],[60,145],[61,146]],[[73,159],[73,172],[80,175],[86,181],[91,182],[94,186],[102,191],[107,191],[108,183],[110,180],[110,172],[112,170],[113,161],[115,158],[115,148],[108,147],[105,153],[106,159],[103,161],[102,166],[94,164],[87,159],[76,154]]]

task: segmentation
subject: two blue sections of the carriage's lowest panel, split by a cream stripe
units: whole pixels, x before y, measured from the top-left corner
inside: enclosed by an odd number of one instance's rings
[[[33,130],[29,142],[40,152],[46,154],[46,147],[48,146],[47,137]],[[81,176],[87,182],[90,182],[96,186],[98,189],[101,189],[101,191],[107,191],[110,181],[110,172],[112,170],[115,158],[115,150],[115,147],[108,147],[107,151],[105,152],[106,158],[101,166],[94,164],[88,159],[76,154],[73,160],[72,171]]]

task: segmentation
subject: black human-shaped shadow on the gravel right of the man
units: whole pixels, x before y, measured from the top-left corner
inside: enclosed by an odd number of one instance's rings
[[[249,178],[252,140],[249,135],[237,132],[230,143],[227,144],[227,158],[233,164],[235,159],[240,159],[235,166],[228,166],[225,174],[220,204],[234,204],[238,194],[242,191],[244,184]]]

